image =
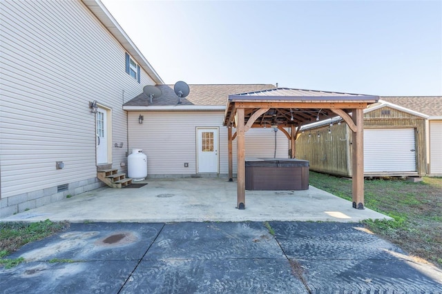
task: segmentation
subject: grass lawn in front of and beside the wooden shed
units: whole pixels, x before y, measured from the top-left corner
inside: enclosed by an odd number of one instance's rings
[[[352,200],[349,179],[310,172],[309,184]],[[364,222],[367,228],[442,268],[442,178],[423,177],[417,183],[400,178],[365,179],[364,186],[365,207],[394,218]]]

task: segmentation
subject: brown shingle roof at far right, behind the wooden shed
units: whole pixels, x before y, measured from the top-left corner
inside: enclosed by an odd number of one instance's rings
[[[430,117],[442,116],[442,96],[379,97],[383,101],[421,112]]]

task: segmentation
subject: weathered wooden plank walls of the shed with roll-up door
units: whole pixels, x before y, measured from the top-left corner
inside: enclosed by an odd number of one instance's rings
[[[427,173],[424,118],[385,106],[364,114],[364,129],[376,128],[414,128],[417,174]],[[296,157],[309,160],[311,170],[352,177],[352,130],[345,122],[340,126],[334,124],[330,130],[331,134],[328,133],[328,125],[305,130],[296,140]],[[309,134],[311,137],[308,137]],[[317,137],[318,134],[320,138]]]

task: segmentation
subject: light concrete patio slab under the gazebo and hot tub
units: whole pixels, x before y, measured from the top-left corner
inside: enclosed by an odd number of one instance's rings
[[[0,219],[35,222],[360,222],[390,219],[309,186],[300,191],[246,191],[236,209],[236,182],[226,178],[146,179],[140,188],[99,188]]]

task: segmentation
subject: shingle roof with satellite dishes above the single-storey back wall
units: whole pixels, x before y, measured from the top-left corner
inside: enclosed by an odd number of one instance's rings
[[[153,99],[141,93],[137,97],[126,102],[124,106],[175,106],[178,97],[173,91],[173,85],[157,85],[162,91],[162,95]],[[220,84],[220,85],[189,85],[189,96],[181,99],[180,105],[195,106],[225,106],[229,95],[240,94],[245,92],[256,92],[260,90],[269,90],[276,88],[271,84]]]

